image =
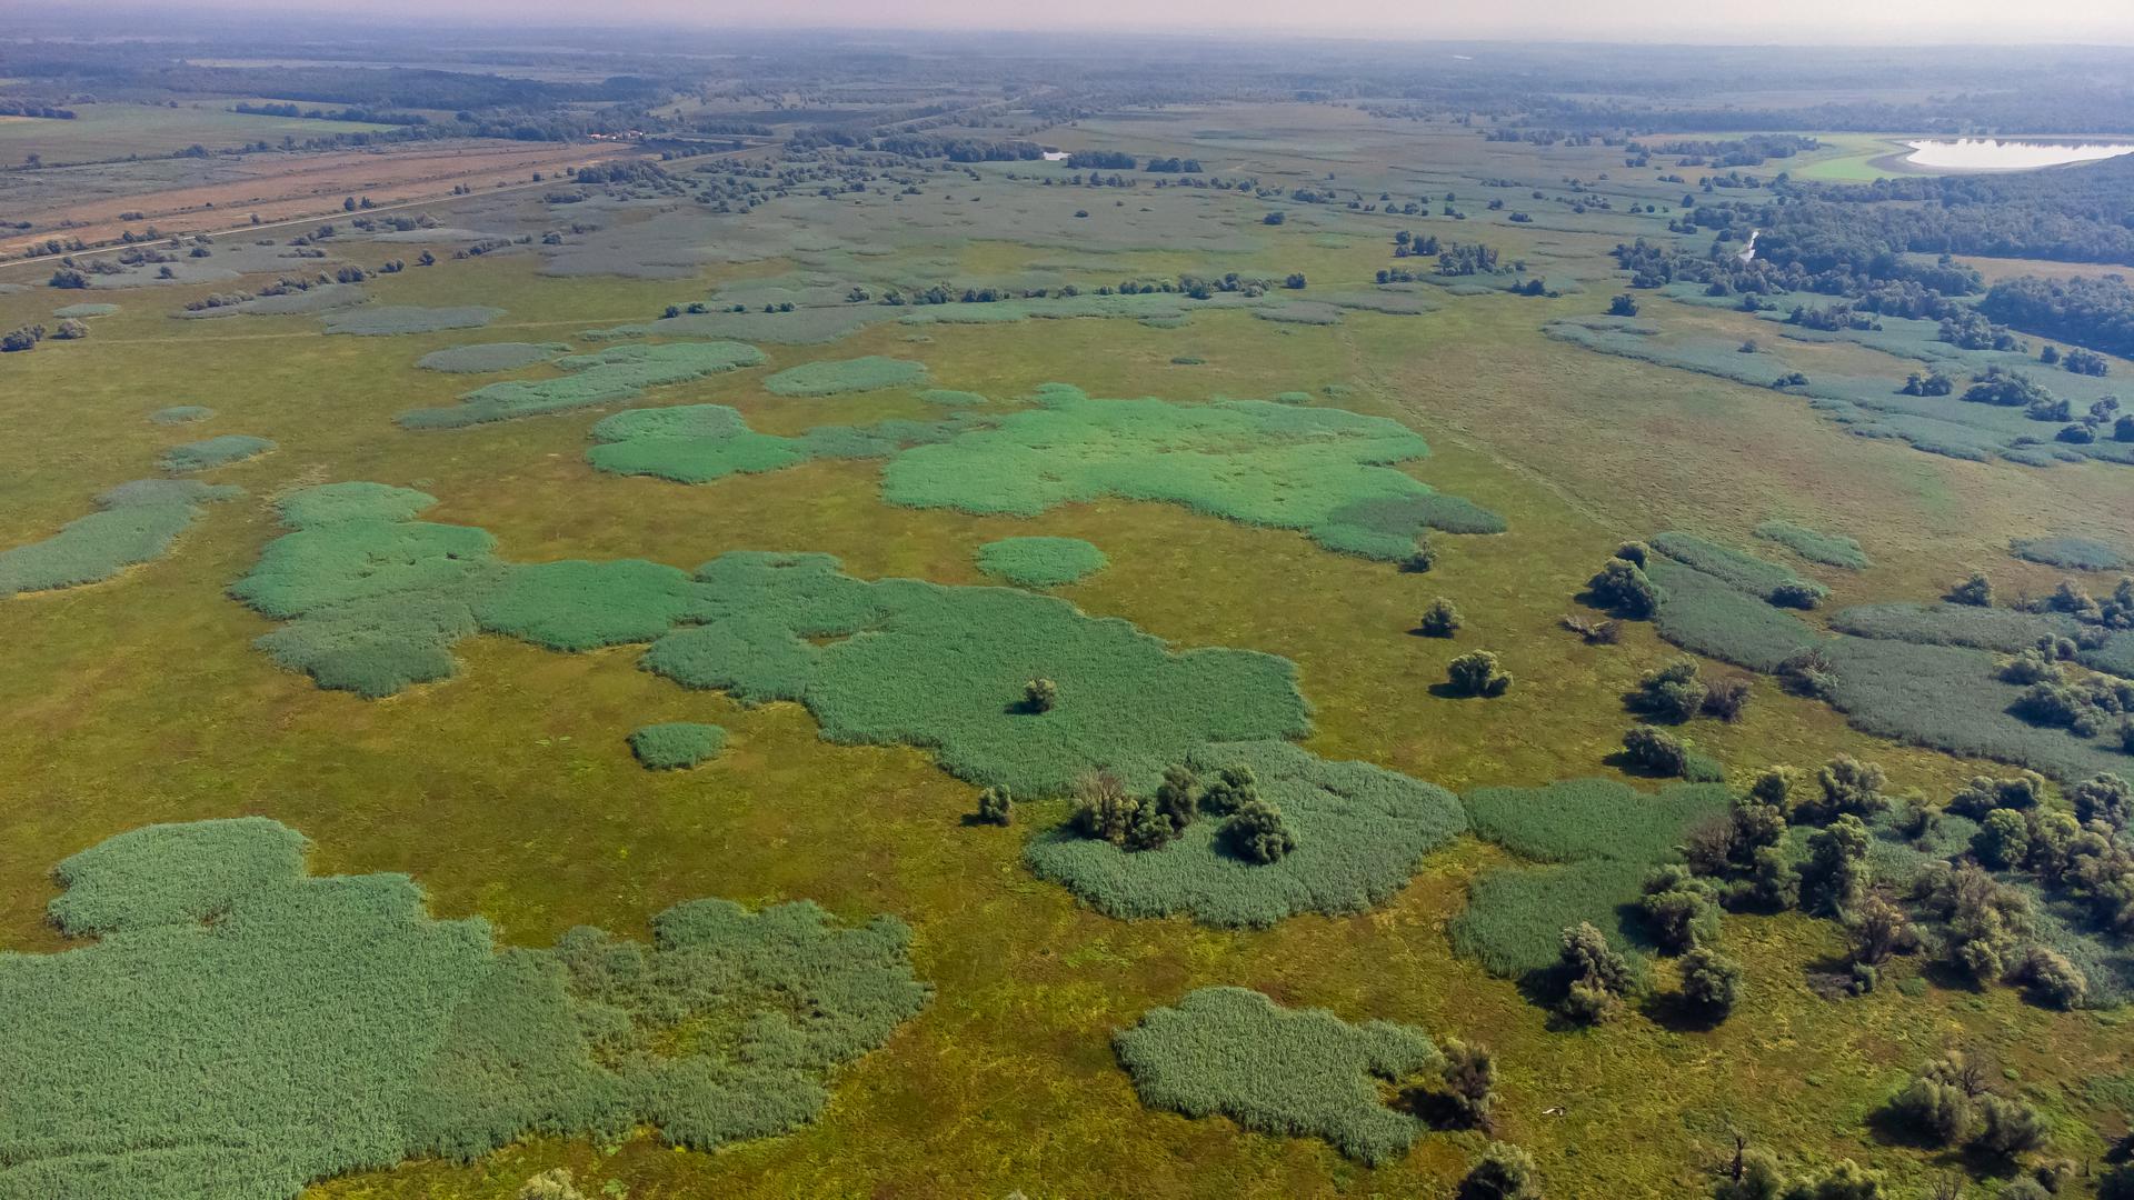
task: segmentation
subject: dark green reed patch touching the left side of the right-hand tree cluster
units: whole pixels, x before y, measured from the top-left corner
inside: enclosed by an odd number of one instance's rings
[[[1460,796],[1485,841],[1549,867],[1502,867],[1468,888],[1451,922],[1453,948],[1492,974],[1528,976],[1556,965],[1562,931],[1592,922],[1618,948],[1650,944],[1637,901],[1652,867],[1677,858],[1684,835],[1726,811],[1720,784],[1639,792],[1615,779],[1545,788],[1477,788]]]

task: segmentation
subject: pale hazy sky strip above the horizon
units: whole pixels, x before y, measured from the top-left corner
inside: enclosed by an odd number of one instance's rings
[[[171,0],[339,13],[344,0]],[[401,11],[578,23],[965,30],[1297,30],[1411,38],[1916,43],[2025,41],[2134,45],[2134,0],[371,0]]]

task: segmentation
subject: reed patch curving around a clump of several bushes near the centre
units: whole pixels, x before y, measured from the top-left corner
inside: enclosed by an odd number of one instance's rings
[[[1214,743],[1187,760],[1204,777],[1251,767],[1259,794],[1295,833],[1295,850],[1251,863],[1223,843],[1221,818],[1201,816],[1157,850],[1052,828],[1031,839],[1024,860],[1108,916],[1263,927],[1300,912],[1381,905],[1426,854],[1466,828],[1451,792],[1368,762],[1327,762],[1280,741]]]

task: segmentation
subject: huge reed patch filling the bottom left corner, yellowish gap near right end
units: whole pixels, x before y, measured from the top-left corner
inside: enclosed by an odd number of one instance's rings
[[[888,916],[687,901],[651,946],[574,929],[504,950],[480,918],[429,916],[405,875],[307,875],[305,848],[239,818],[60,865],[51,920],[96,942],[0,954],[0,1189],[282,1200],[529,1134],[775,1136],[930,995]]]

